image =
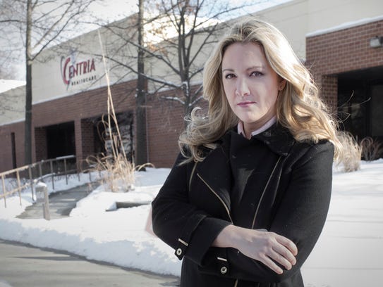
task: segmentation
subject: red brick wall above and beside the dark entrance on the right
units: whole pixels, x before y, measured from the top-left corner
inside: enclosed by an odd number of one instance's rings
[[[375,36],[383,36],[383,20],[307,37],[306,65],[334,108],[336,74],[383,65],[383,48],[370,47]]]

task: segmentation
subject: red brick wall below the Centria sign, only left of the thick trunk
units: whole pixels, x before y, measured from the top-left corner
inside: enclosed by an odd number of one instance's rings
[[[115,84],[111,87],[116,113],[135,109],[135,81]],[[89,153],[89,134],[83,131],[81,120],[107,113],[107,88],[93,89],[32,106],[32,159],[47,158],[45,129],[49,125],[75,122],[76,155]],[[11,132],[16,135],[18,167],[24,165],[24,122],[0,126],[0,172],[12,168]],[[83,146],[85,137],[85,146]]]

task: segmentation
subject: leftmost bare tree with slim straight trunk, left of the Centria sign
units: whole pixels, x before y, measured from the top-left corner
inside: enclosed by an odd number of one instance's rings
[[[21,56],[21,51],[25,54],[25,164],[32,162],[32,63],[44,49],[74,31],[80,15],[92,1],[95,0],[0,2],[0,40],[16,57]],[[14,49],[20,42],[23,46]]]

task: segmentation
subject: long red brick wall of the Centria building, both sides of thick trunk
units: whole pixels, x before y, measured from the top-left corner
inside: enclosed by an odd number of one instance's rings
[[[179,91],[178,91],[179,92]],[[163,91],[147,98],[147,155],[156,167],[171,167],[178,153],[178,136],[184,129],[183,106],[177,101],[161,99],[175,96],[177,91]],[[111,87],[116,113],[135,111],[135,81]],[[199,106],[205,106],[202,101]],[[63,122],[75,123],[75,152],[86,158],[94,151],[92,122],[88,118],[107,113],[107,88],[84,91],[80,94],[38,103],[32,107],[32,155],[38,161],[47,158],[46,129]],[[133,120],[133,129],[135,122]],[[11,132],[16,132],[18,166],[23,165],[24,123],[1,126],[0,171],[11,169]],[[136,134],[136,132],[134,132]],[[135,136],[133,134],[133,140]],[[20,142],[21,141],[21,142]],[[135,144],[135,143],[134,143]]]

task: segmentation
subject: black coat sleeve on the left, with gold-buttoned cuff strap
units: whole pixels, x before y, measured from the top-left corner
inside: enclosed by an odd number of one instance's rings
[[[152,202],[153,231],[175,249],[178,259],[183,256],[201,264],[212,242],[224,227],[230,224],[210,217],[188,200],[188,184],[194,162],[179,165],[180,154],[162,189]]]

